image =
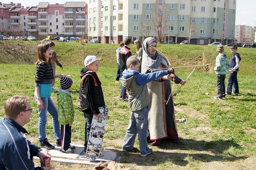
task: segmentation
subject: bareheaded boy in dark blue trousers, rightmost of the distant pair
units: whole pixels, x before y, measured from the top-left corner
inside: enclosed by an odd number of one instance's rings
[[[237,73],[239,71],[239,65],[240,65],[241,57],[240,57],[239,53],[237,53],[237,46],[236,45],[232,45],[230,47],[230,51],[231,51],[233,56],[231,58],[230,67],[229,67],[230,75],[229,75],[229,78],[228,78],[228,89],[227,89],[227,93],[226,93],[227,95],[231,95],[232,86],[234,86],[234,88],[235,88],[234,93],[239,94]]]

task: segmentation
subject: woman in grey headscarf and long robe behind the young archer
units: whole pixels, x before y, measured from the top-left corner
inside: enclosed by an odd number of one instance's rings
[[[143,42],[142,73],[148,69],[170,68],[168,60],[156,51],[156,42],[156,39],[152,37],[146,38]],[[176,75],[174,82],[182,85],[186,83]],[[172,143],[184,145],[178,137],[170,80],[161,77],[149,82],[147,86],[151,100],[148,113],[149,144],[159,146],[161,139],[168,138]]]

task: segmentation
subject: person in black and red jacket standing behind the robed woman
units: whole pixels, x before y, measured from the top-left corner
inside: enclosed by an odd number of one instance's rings
[[[124,39],[124,46],[119,51],[121,77],[122,77],[123,71],[127,68],[126,61],[128,57],[132,55],[129,48],[131,43],[132,43],[132,39],[129,37],[126,37],[126,39]],[[121,84],[120,99],[124,101],[128,101],[126,90],[123,88],[122,84]]]

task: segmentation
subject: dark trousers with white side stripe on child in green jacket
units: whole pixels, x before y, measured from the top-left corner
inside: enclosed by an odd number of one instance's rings
[[[71,143],[71,126],[60,125],[61,131],[61,151],[65,151],[69,149],[69,145]]]

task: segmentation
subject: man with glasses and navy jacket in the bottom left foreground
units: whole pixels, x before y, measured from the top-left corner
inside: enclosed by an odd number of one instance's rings
[[[50,170],[53,167],[34,166],[33,156],[38,156],[42,162],[50,158],[50,154],[32,145],[25,136],[28,133],[23,128],[30,122],[32,108],[28,97],[13,96],[4,104],[5,117],[0,119],[0,169],[9,170]]]

